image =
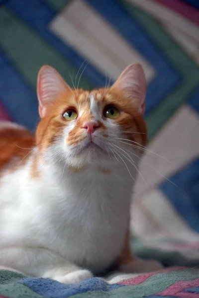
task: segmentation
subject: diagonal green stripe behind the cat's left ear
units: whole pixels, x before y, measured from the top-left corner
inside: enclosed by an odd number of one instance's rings
[[[44,64],[57,69],[70,85],[70,74],[76,77],[78,70],[69,61],[5,7],[0,9],[0,47],[33,88]],[[94,85],[82,75],[80,87],[92,89]]]

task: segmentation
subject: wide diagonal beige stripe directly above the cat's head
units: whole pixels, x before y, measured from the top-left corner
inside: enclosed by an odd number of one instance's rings
[[[50,29],[100,72],[115,80],[129,64],[140,62],[147,81],[153,67],[84,0],[73,0],[50,23]]]

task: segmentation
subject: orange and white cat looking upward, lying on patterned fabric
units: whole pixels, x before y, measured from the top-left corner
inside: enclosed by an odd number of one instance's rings
[[[92,91],[40,69],[35,136],[0,124],[0,265],[62,283],[112,266],[161,268],[137,259],[129,244],[132,186],[147,143],[145,94],[140,64]]]

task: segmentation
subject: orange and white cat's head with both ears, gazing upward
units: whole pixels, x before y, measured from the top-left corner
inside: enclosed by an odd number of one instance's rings
[[[143,151],[145,93],[140,64],[128,66],[111,87],[92,91],[72,89],[54,68],[43,66],[37,81],[38,148],[75,168],[125,160],[122,150]]]

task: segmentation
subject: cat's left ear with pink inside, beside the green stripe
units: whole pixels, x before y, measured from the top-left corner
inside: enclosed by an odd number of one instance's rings
[[[51,66],[44,65],[37,76],[37,97],[39,101],[39,115],[43,118],[49,103],[57,96],[69,90],[63,77]]]

